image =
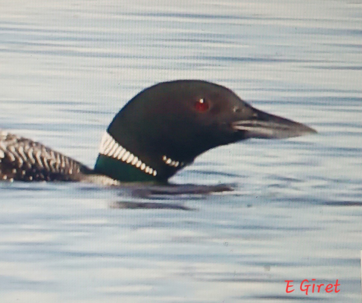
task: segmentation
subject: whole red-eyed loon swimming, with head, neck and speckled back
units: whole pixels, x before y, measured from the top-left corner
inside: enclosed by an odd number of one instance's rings
[[[0,180],[164,182],[216,146],[308,133],[316,131],[257,110],[224,86],[162,82],[141,91],[115,115],[93,170],[38,142],[0,132]]]

